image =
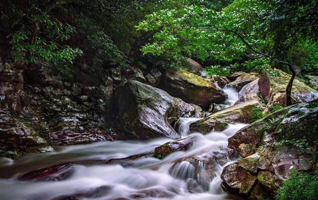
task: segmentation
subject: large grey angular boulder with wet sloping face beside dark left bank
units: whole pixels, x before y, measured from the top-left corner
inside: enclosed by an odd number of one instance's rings
[[[159,136],[179,139],[168,123],[170,117],[189,117],[200,112],[199,106],[185,103],[152,86],[130,80],[116,91],[120,124],[127,136],[148,139]]]

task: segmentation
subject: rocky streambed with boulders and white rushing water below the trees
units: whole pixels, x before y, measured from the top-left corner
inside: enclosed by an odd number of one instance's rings
[[[0,69],[3,200],[266,199],[292,171],[317,170],[318,92],[296,79],[294,105],[271,113],[290,78],[277,69],[72,82],[45,65]],[[250,123],[256,108],[267,116]]]

